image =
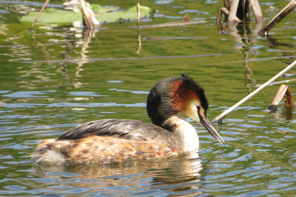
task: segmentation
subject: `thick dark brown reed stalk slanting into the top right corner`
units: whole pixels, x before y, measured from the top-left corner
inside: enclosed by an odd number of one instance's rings
[[[271,19],[268,24],[263,27],[258,33],[259,34],[267,34],[269,30],[271,30],[272,27],[274,27],[276,24],[278,24],[281,19],[286,17],[290,12],[292,12],[296,7],[296,1],[292,0],[284,9],[281,10],[276,16]]]

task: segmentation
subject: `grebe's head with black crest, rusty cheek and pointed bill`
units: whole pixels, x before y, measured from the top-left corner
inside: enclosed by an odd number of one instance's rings
[[[159,82],[151,89],[147,99],[147,113],[152,122],[160,125],[165,116],[183,112],[189,118],[199,122],[220,143],[224,142],[219,133],[211,125],[207,118],[209,103],[204,89],[199,83],[186,74],[181,77],[168,77]],[[154,107],[152,106],[154,105]],[[156,106],[155,108],[155,105]],[[157,116],[164,113],[163,116]],[[215,134],[217,136],[215,136]]]

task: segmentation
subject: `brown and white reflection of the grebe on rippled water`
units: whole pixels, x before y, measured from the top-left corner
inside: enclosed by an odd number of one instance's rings
[[[79,166],[34,166],[28,182],[41,183],[38,189],[64,189],[70,194],[107,196],[196,196],[202,169],[198,154],[129,163]],[[52,181],[58,185],[52,185]],[[185,187],[186,185],[186,187]],[[185,188],[184,188],[185,187]],[[37,190],[36,188],[34,190]],[[33,191],[34,191],[33,190]],[[65,193],[66,194],[66,193]]]

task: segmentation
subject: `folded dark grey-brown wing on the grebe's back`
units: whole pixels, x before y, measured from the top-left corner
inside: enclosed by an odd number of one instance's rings
[[[151,141],[158,136],[168,136],[170,131],[142,121],[127,119],[104,119],[75,126],[58,137],[62,139],[81,139],[87,136],[115,136],[131,140]],[[171,133],[172,134],[172,133]]]

